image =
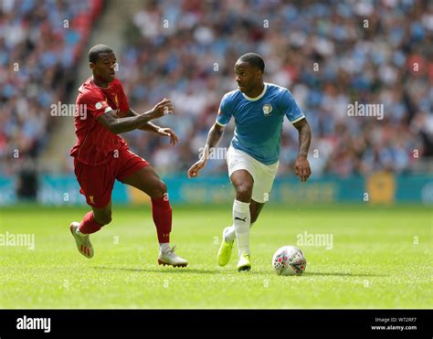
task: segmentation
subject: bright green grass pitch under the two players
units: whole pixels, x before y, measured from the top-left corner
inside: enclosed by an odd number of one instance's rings
[[[237,248],[216,264],[231,207],[174,207],[172,243],[189,266],[157,265],[149,207],[113,206],[91,237],[95,257],[76,249],[69,222],[84,207],[3,207],[0,234],[34,234],[35,249],[0,247],[0,308],[431,308],[428,207],[265,207],[250,233],[252,270],[238,272]],[[300,234],[333,235],[333,248],[300,246],[302,276],[280,277],[274,251]],[[316,244],[317,245],[317,244]]]

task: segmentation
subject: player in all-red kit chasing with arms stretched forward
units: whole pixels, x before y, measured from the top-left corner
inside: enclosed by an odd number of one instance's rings
[[[90,234],[111,222],[111,190],[117,179],[142,190],[152,199],[153,222],[160,244],[158,263],[185,267],[188,262],[170,247],[172,207],[164,182],[118,135],[140,129],[169,137],[170,143],[177,143],[179,139],[170,128],[150,122],[173,113],[172,101],[164,99],[151,111],[138,114],[131,110],[121,81],[115,78],[116,57],[112,49],[105,45],[90,48],[89,62],[93,75],[79,88],[75,115],[78,140],[70,150],[79,192],[86,196],[92,208],[80,223],[72,222],[69,227],[79,253],[92,258]]]

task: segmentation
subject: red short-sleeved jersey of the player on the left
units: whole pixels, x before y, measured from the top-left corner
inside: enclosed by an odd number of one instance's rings
[[[110,132],[97,121],[107,111],[116,111],[123,116],[130,111],[121,81],[114,79],[108,89],[101,88],[90,77],[79,87],[79,96],[75,106],[75,133],[77,143],[70,150],[70,155],[80,163],[99,165],[107,163],[116,152],[128,149],[128,145],[117,134]]]

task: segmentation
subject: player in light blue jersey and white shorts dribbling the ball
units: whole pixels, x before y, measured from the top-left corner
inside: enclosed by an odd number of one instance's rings
[[[301,182],[312,174],[307,154],[312,140],[310,126],[289,90],[263,82],[265,63],[256,53],[238,58],[235,65],[238,90],[228,92],[219,106],[216,123],[210,129],[205,151],[188,170],[198,175],[220,142],[224,129],[235,118],[235,136],[227,152],[228,175],[236,190],[233,225],[223,231],[218,265],[230,260],[235,238],[238,240],[238,270],[250,270],[249,228],[269,199],[279,166],[281,128],[284,116],[299,132],[299,152],[295,174]]]

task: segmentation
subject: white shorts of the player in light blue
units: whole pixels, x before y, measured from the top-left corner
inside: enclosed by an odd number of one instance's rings
[[[251,155],[230,146],[227,151],[228,177],[238,170],[246,170],[254,179],[252,199],[264,204],[269,200],[269,193],[277,175],[278,165],[261,164]]]

